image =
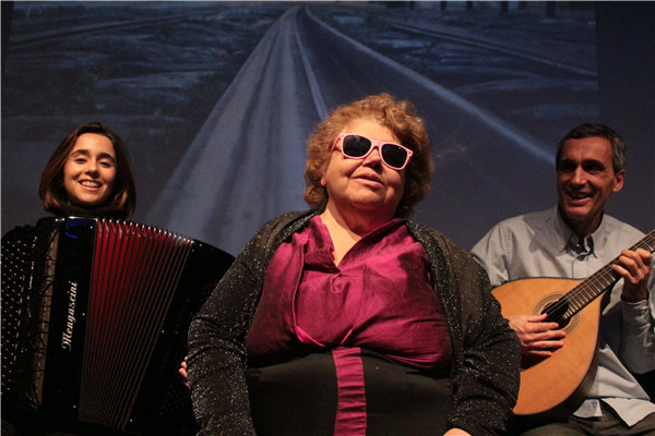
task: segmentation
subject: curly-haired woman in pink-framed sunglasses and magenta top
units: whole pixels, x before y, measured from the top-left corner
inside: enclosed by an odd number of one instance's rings
[[[386,94],[308,145],[311,210],[267,222],[189,332],[200,435],[496,435],[520,344],[484,270],[408,216],[430,145]]]

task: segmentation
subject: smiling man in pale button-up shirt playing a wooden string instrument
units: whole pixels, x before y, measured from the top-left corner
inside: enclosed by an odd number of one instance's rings
[[[653,235],[643,246],[626,250],[644,234],[604,213],[609,196],[623,186],[624,161],[626,145],[611,129],[574,128],[560,141],[556,156],[558,204],[498,223],[472,250],[495,287],[527,277],[585,279],[604,265],[618,281],[598,299],[597,338],[592,338],[594,349],[596,342],[598,347],[597,371],[576,409],[563,416],[517,419],[513,434],[655,434],[655,404],[633,376],[655,370]],[[555,361],[569,346],[572,334],[547,319],[547,311],[505,314],[521,339],[524,364]],[[567,367],[560,371],[545,377],[557,379]]]

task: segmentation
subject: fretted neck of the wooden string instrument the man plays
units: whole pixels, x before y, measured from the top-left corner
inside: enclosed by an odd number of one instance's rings
[[[631,251],[636,249],[643,249],[651,253],[655,252],[655,230],[652,230],[641,241],[630,247]],[[582,281],[562,296],[562,299],[565,299],[568,302],[568,308],[562,318],[569,319],[573,317],[573,315],[611,289],[614,284],[619,281],[621,276],[612,269],[612,265],[615,265],[618,259],[619,256],[615,257],[612,262],[598,269],[586,280]]]

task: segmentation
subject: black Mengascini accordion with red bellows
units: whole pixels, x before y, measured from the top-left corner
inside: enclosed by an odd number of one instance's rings
[[[193,428],[178,374],[187,330],[233,261],[118,219],[44,218],[10,231],[2,238],[3,420],[93,434]]]

